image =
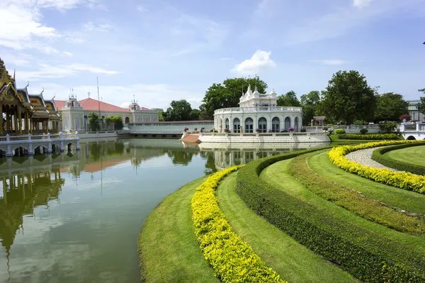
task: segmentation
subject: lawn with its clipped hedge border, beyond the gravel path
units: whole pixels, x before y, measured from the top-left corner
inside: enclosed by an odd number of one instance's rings
[[[399,171],[425,175],[425,146],[421,143],[393,145],[373,150],[372,159]]]

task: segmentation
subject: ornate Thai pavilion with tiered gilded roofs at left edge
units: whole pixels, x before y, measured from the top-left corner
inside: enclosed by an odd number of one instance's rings
[[[60,116],[53,100],[40,94],[29,94],[28,85],[16,88],[13,79],[0,60],[0,135],[22,135],[58,131]]]

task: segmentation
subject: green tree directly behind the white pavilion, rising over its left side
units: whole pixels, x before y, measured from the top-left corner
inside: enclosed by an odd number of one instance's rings
[[[238,107],[239,99],[242,96],[242,87],[246,91],[248,84],[252,88],[256,85],[260,93],[264,93],[267,89],[266,82],[263,82],[259,77],[252,79],[246,77],[227,78],[220,84],[212,84],[205,92],[203,103],[200,105],[200,118],[212,120],[215,110]]]

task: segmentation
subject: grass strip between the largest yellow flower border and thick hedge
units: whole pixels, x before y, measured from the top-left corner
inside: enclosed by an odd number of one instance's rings
[[[218,187],[220,209],[232,230],[251,245],[268,267],[290,283],[356,281],[248,209],[236,193],[236,177],[237,173],[232,173]]]

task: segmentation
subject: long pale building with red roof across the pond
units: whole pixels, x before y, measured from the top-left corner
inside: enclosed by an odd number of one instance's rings
[[[103,119],[119,116],[123,118],[124,123],[159,121],[158,111],[140,107],[135,100],[128,108],[123,108],[91,98],[77,101],[71,95],[67,101],[55,100],[55,105],[62,116],[62,129],[64,131],[89,131],[89,119],[87,117],[93,112]]]

